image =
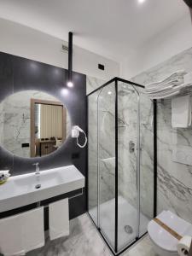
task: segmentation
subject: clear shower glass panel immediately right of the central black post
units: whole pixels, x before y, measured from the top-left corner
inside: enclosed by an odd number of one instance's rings
[[[118,250],[138,237],[139,228],[139,94],[118,84]]]

